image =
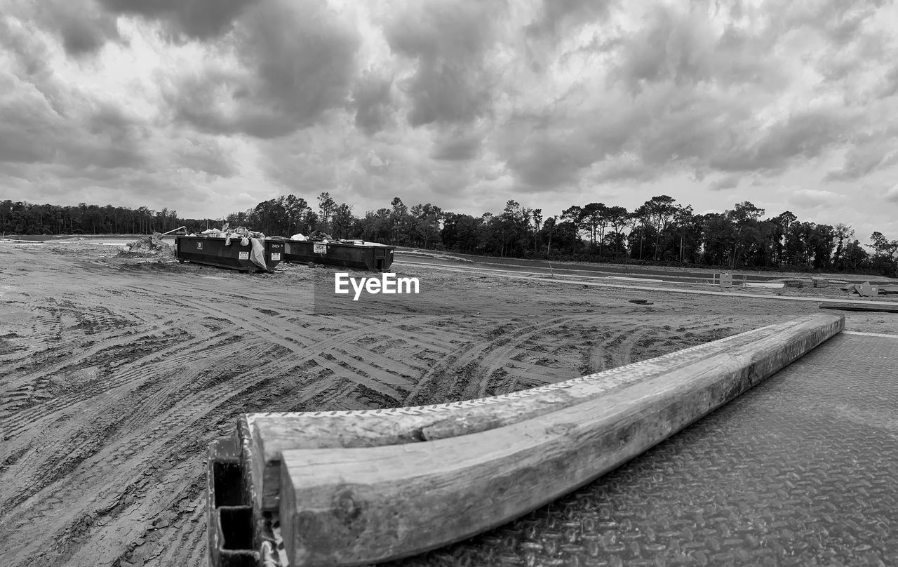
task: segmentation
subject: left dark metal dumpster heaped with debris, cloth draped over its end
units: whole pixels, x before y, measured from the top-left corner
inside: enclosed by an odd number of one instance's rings
[[[250,260],[252,244],[242,246],[240,238],[232,238],[231,244],[225,245],[225,240],[206,236],[175,236],[175,258],[231,270],[261,270]],[[273,271],[284,260],[284,241],[266,238],[261,242],[265,247],[265,265]]]

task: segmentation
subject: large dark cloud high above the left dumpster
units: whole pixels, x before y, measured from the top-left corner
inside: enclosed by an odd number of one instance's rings
[[[359,36],[323,0],[266,0],[234,36],[242,71],[187,75],[166,93],[181,120],[210,133],[280,137],[348,100]]]

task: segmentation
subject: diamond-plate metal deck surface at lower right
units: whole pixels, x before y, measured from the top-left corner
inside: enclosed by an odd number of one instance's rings
[[[898,565],[898,340],[837,335],[594,483],[381,565]]]

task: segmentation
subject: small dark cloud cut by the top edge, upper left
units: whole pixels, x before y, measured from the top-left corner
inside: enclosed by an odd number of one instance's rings
[[[228,30],[248,5],[259,0],[98,0],[110,13],[171,23],[176,31],[206,39]],[[269,2],[269,0],[265,0]]]

